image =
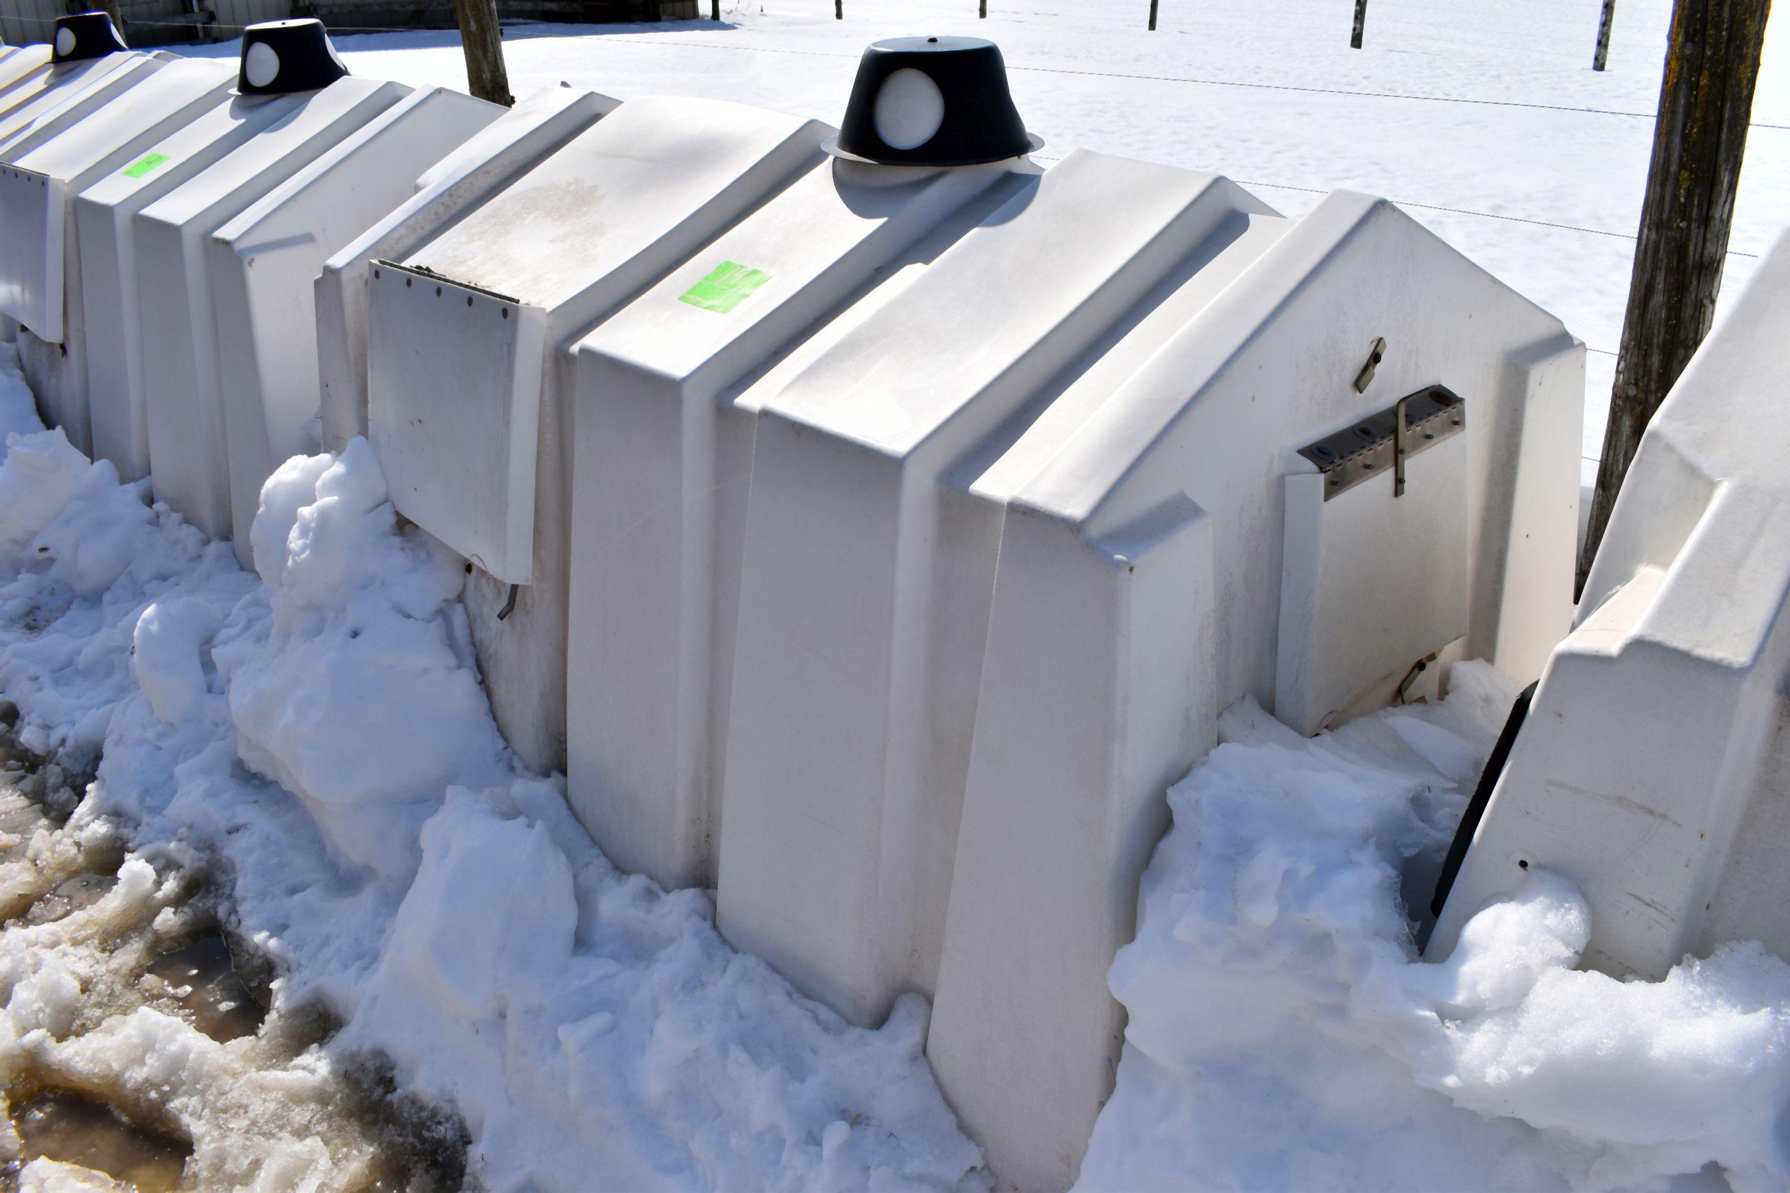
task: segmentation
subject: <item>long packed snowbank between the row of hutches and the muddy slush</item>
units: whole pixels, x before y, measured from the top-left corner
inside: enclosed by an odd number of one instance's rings
[[[145,490],[59,429],[9,438],[0,692],[29,748],[98,758],[79,816],[229,875],[234,930],[285,975],[276,1014],[345,1023],[324,1059],[390,1055],[465,1118],[494,1189],[981,1180],[920,1055],[924,1003],[847,1027],[732,952],[703,893],[616,873],[517,771],[464,565],[399,529],[363,440],[267,483],[261,578]],[[55,1036],[34,986],[0,987],[14,1030]],[[184,1073],[172,1020],[118,1036],[120,1075]]]

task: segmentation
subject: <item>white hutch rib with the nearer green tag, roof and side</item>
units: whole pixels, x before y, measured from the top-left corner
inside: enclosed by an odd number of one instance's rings
[[[741,383],[936,256],[1020,172],[827,159],[578,345],[567,783],[618,866],[714,885],[757,415]]]

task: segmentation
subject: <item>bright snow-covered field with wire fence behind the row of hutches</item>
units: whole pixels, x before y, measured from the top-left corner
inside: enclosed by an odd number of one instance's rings
[[[505,30],[516,95],[560,80],[618,98],[703,95],[838,123],[857,55],[904,34],[1001,45],[1053,161],[1070,148],[1214,170],[1287,215],[1350,188],[1407,207],[1591,349],[1584,454],[1597,458],[1640,224],[1670,0],[1622,0],[1591,70],[1602,0],[725,0],[721,25]],[[707,11],[707,0],[703,0]],[[338,34],[369,77],[465,86],[453,32]],[[234,55],[238,43],[200,52]],[[1767,30],[1735,204],[1727,288],[1790,224],[1790,25]]]

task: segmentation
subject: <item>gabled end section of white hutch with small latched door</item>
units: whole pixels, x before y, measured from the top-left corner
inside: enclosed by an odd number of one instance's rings
[[[922,474],[936,504],[904,528],[954,503],[999,526],[999,556],[959,554],[993,571],[986,612],[922,590],[906,617],[931,658],[984,628],[929,1052],[1022,1188],[1074,1172],[1110,1091],[1106,966],[1217,712],[1253,696],[1312,732],[1450,644],[1532,676],[1570,619],[1584,347],[1384,200],[1214,236],[1160,347],[952,444],[974,467]]]

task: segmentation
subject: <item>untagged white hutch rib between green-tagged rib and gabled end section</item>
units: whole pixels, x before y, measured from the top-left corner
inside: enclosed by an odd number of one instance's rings
[[[1251,207],[1210,173],[1070,154],[764,402],[718,914],[854,1023],[938,973],[974,723],[961,664],[979,662],[997,544],[942,481]]]

